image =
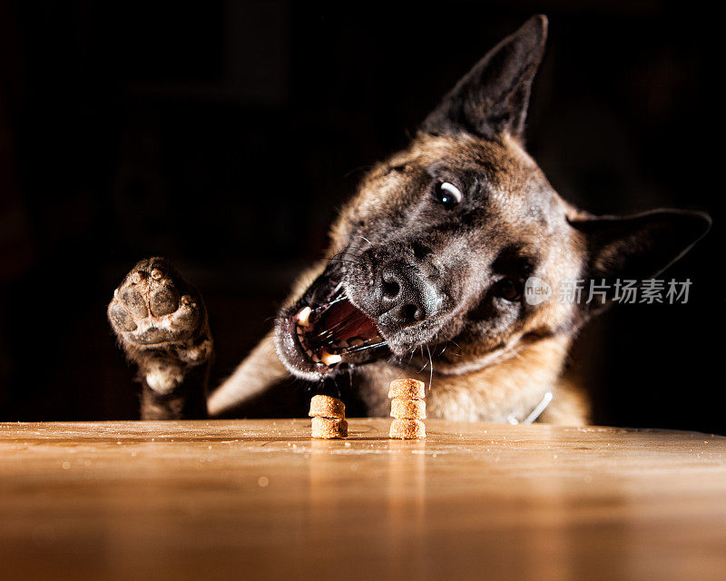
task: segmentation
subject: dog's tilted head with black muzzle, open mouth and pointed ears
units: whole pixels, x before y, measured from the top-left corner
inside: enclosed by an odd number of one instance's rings
[[[495,46],[406,151],[368,172],[333,226],[327,267],[278,317],[293,374],[321,379],[418,349],[439,372],[481,369],[571,335],[600,305],[524,300],[525,281],[643,280],[708,230],[698,212],[594,217],[554,191],[523,147],[546,25],[535,16]]]

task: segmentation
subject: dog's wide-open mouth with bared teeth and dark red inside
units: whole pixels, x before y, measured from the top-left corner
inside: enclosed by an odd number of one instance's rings
[[[319,379],[336,369],[362,365],[388,352],[376,322],[358,309],[342,284],[313,284],[283,313],[277,330],[280,358],[296,375]],[[322,299],[320,295],[329,295]]]

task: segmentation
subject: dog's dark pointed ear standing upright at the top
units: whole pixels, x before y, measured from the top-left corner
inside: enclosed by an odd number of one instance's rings
[[[546,38],[546,16],[527,20],[446,94],[421,124],[421,131],[433,135],[470,133],[486,139],[509,133],[521,140]]]

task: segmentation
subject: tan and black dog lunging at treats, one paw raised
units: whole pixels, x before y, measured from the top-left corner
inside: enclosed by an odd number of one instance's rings
[[[648,279],[711,221],[670,210],[595,217],[554,191],[523,144],[546,25],[535,16],[495,46],[405,151],[368,172],[332,228],[329,259],[300,278],[275,329],[209,397],[200,293],[163,259],[137,264],[108,313],[139,368],[142,416],[230,415],[290,376],[346,389],[361,413],[385,416],[388,382],[420,377],[432,379],[431,418],[524,421],[554,394],[541,421],[586,421],[586,399],[561,379],[564,359],[611,300],[531,304],[525,281]]]

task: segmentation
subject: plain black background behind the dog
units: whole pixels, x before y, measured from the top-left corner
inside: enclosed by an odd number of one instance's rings
[[[0,420],[137,417],[105,320],[135,261],[197,283],[229,374],[362,169],[537,12],[528,146],[587,210],[705,210],[668,271],[686,305],[620,306],[573,364],[599,423],[726,431],[721,33],[658,2],[0,5]],[[721,180],[722,181],[722,180]]]

